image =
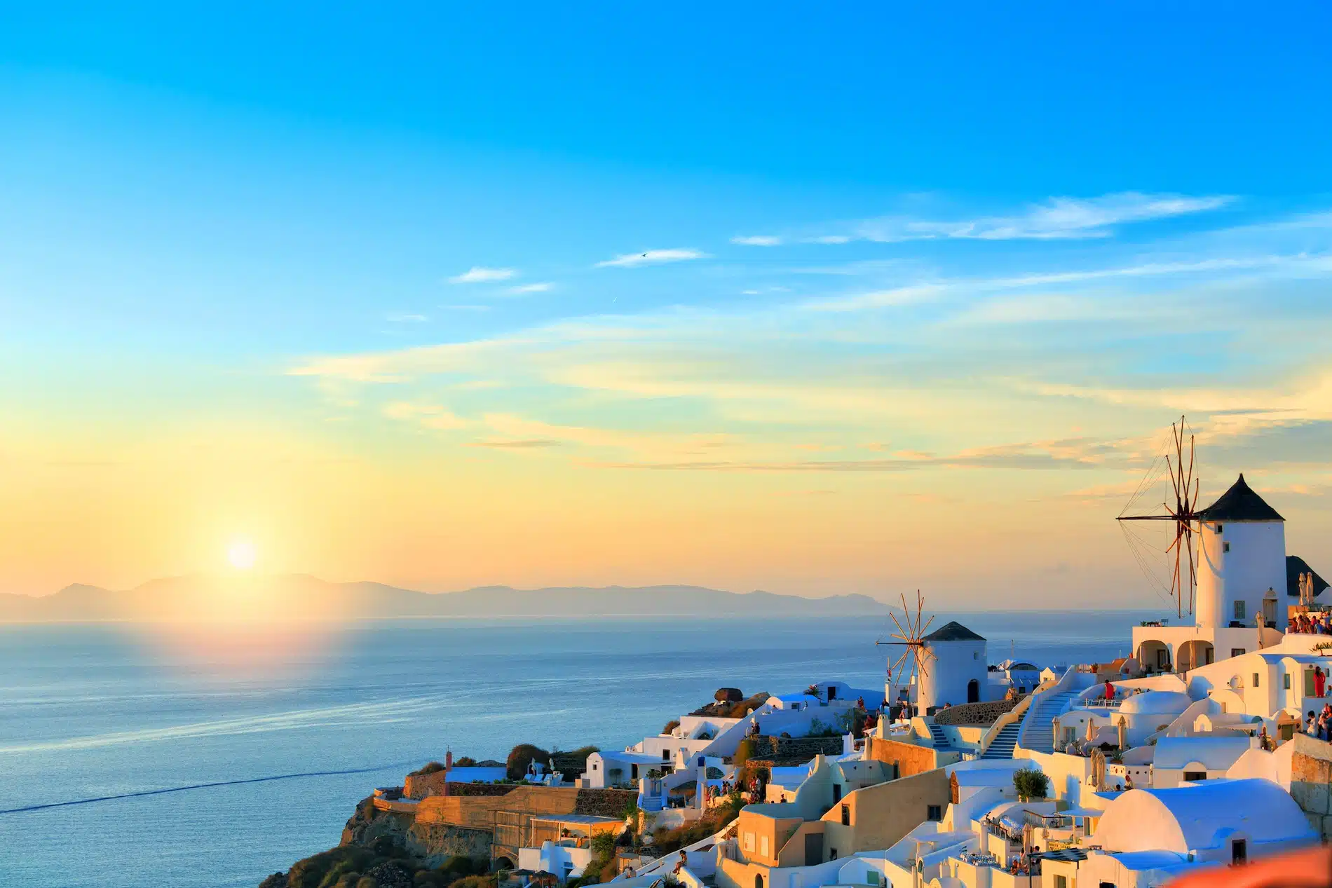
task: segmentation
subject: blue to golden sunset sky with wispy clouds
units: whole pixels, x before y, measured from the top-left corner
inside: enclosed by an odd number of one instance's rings
[[[0,591],[1332,571],[1325,5],[490,5],[0,9]]]

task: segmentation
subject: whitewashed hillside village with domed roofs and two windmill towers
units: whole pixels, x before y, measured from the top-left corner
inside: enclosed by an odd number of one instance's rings
[[[722,688],[626,750],[449,758],[374,813],[523,887],[1147,888],[1327,843],[1332,592],[1243,475],[1197,525],[1196,619],[1130,658],[990,666],[908,622],[882,688]]]

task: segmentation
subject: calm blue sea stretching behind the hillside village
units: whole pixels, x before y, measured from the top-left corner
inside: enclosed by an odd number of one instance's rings
[[[1158,615],[955,616],[990,639],[991,662],[1011,640],[1046,666],[1116,656]],[[623,747],[722,686],[878,687],[882,631],[863,619],[413,620],[317,639],[0,627],[0,885],[253,888],[337,844],[358,799],[446,747],[478,759],[519,742]]]

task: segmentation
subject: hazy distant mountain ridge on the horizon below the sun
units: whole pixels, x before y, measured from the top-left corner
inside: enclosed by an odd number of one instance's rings
[[[305,574],[202,574],[113,591],[76,583],[44,596],[0,594],[0,622],[322,620],[410,616],[815,616],[884,614],[866,595],[801,598],[702,586],[510,588],[420,592],[382,583],[329,583]]]

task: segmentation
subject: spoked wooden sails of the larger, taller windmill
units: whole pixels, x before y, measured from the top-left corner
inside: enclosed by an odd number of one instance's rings
[[[1185,449],[1184,435],[1188,435],[1188,446]],[[1156,576],[1152,575],[1148,567],[1148,556],[1160,555],[1160,550],[1152,546],[1136,533],[1134,533],[1126,522],[1139,522],[1139,521],[1155,521],[1155,522],[1169,522],[1168,527],[1172,533],[1172,542],[1166,546],[1166,568],[1171,574],[1169,579],[1169,596],[1175,599],[1176,612],[1183,616],[1185,612],[1193,612],[1193,595],[1197,587],[1197,560],[1193,556],[1193,535],[1197,533],[1195,525],[1197,523],[1197,478],[1193,477],[1193,431],[1188,427],[1184,417],[1179,418],[1177,423],[1171,423],[1171,438],[1166,445],[1166,451],[1159,454],[1152,465],[1147,470],[1147,475],[1139,482],[1138,489],[1134,495],[1130,497],[1128,503],[1124,505],[1123,511],[1119,513],[1116,518],[1120,522],[1120,529],[1124,531],[1124,539],[1128,541],[1130,550],[1134,553],[1134,558],[1138,560],[1139,567],[1154,583],[1159,584],[1166,590],[1164,583],[1162,583]],[[1173,450],[1173,458],[1171,455]],[[1185,453],[1187,450],[1187,453]],[[1138,507],[1142,497],[1151,490],[1162,477],[1169,473],[1169,489],[1166,493],[1166,501],[1159,509],[1152,509],[1144,514],[1127,514]],[[1173,503],[1173,505],[1172,505]],[[1169,564],[1171,553],[1173,553],[1173,567]],[[1184,602],[1188,600],[1188,610],[1184,610]]]

